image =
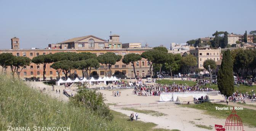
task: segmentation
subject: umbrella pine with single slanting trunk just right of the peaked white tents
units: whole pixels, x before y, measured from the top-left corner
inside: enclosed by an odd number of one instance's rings
[[[141,55],[135,54],[135,53],[126,54],[122,60],[122,62],[125,63],[126,65],[129,65],[131,63],[131,66],[133,66],[133,73],[135,77],[136,77],[136,72],[135,72],[134,62],[137,62],[138,60],[141,60]]]

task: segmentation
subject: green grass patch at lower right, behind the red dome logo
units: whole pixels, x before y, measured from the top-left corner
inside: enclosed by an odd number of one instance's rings
[[[206,114],[216,116],[218,118],[226,119],[232,110],[216,110],[215,107],[230,107],[223,104],[216,103],[202,103],[202,104],[190,104],[190,105],[180,105],[182,107],[189,107],[194,109],[204,110]],[[236,110],[237,115],[242,119],[243,124],[249,125],[251,127],[256,127],[256,111],[251,109],[243,108],[243,110]]]

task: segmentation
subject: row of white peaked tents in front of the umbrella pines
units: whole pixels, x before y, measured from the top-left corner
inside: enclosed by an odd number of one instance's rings
[[[56,81],[56,85],[60,85],[62,83],[76,83],[76,82],[104,82],[104,84],[106,85],[107,81],[120,81],[120,79],[118,79],[117,77],[106,77],[104,76],[103,78],[99,77],[98,79],[95,79],[94,77],[91,77],[90,79],[86,79],[85,77],[83,77],[83,79],[79,79],[79,78],[75,78],[74,80],[67,78],[66,80],[63,79],[58,79]]]

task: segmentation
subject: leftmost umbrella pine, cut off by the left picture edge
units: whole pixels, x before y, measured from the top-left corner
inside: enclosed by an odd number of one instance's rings
[[[13,58],[13,54],[11,53],[2,53],[0,54],[0,65],[2,66],[2,73],[6,74],[6,68],[11,66],[11,60]]]

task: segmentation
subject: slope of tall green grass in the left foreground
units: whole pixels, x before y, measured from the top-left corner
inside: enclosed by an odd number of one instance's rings
[[[124,131],[114,121],[99,118],[83,107],[71,106],[29,88],[24,82],[0,76],[0,130],[7,126],[68,126],[70,131]]]

